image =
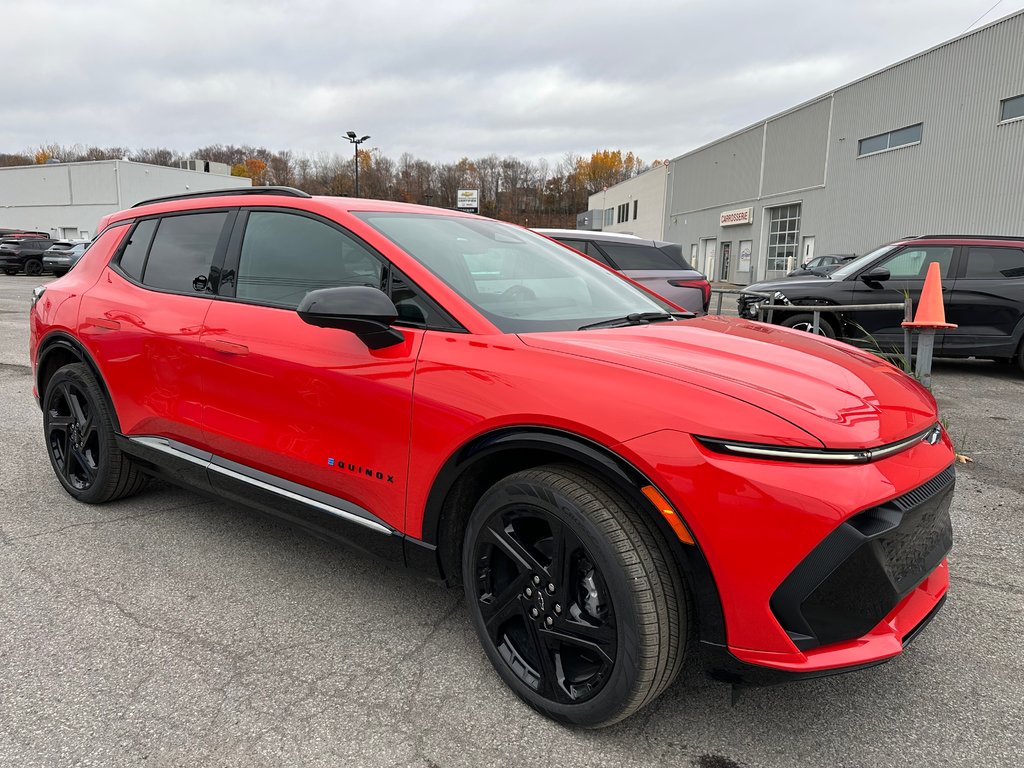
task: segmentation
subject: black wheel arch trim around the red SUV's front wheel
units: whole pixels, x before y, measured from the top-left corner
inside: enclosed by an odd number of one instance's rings
[[[548,427],[506,427],[470,440],[437,473],[427,498],[423,541],[436,547],[437,567],[450,585],[461,583],[463,536],[482,494],[502,477],[544,464],[571,464],[610,483],[632,501],[668,543],[694,598],[701,640],[725,642],[718,588],[699,546],[683,545],[643,496],[653,485],[640,470],[604,445]]]

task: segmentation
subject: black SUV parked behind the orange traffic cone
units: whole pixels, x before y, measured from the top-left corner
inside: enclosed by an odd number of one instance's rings
[[[758,283],[748,291],[771,294],[773,322],[804,331],[813,315],[797,307],[886,304],[909,295],[916,306],[928,265],[938,262],[946,321],[956,328],[936,333],[935,354],[1016,360],[1024,370],[1024,238],[929,234],[883,246],[841,266],[823,280],[795,278]],[[759,319],[766,299],[741,294],[739,315]],[[821,314],[819,333],[859,346],[889,350],[902,345],[902,310]]]

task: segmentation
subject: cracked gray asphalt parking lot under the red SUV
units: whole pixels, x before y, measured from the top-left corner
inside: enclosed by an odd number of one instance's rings
[[[44,279],[45,282],[48,279]],[[28,306],[0,276],[0,764],[1017,766],[1024,375],[939,362],[962,466],[945,607],[900,658],[729,689],[692,665],[612,728],[535,714],[461,593],[169,485],[89,507],[52,475]]]

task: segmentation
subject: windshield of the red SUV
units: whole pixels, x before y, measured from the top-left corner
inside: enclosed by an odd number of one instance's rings
[[[573,251],[486,219],[355,214],[446,283],[504,333],[569,331],[678,311]]]

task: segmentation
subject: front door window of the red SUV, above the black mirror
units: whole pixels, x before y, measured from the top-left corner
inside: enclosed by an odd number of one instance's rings
[[[249,214],[239,257],[240,299],[294,308],[309,291],[381,287],[383,264],[354,239],[291,213]]]

